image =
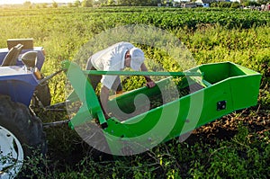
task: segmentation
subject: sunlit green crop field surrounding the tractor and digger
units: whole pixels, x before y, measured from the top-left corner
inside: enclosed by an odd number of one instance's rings
[[[22,175],[38,178],[268,178],[270,176],[270,13],[230,9],[46,8],[1,9],[0,48],[7,39],[33,38],[46,51],[42,73],[48,76],[64,59],[77,60],[89,40],[121,37],[99,34],[129,24],[153,25],[181,40],[196,64],[231,61],[262,74],[257,106],[233,112],[197,130],[131,157],[94,157],[75,130],[45,129],[48,155],[30,158]],[[144,31],[142,31],[143,35]],[[105,33],[106,34],[106,33]],[[98,39],[99,38],[99,39]],[[107,39],[106,39],[107,38]],[[110,39],[111,38],[111,39]],[[113,39],[114,38],[114,39]],[[118,39],[119,38],[119,39]],[[102,42],[96,49],[103,48]],[[132,41],[131,41],[132,42]],[[168,71],[170,57],[141,46]],[[86,61],[86,59],[84,59]],[[150,70],[155,67],[150,66]],[[157,67],[156,67],[157,68]],[[135,82],[134,82],[135,80]],[[142,86],[124,80],[125,90]],[[49,82],[52,103],[65,100],[66,78]],[[248,89],[247,89],[248,90]],[[45,122],[67,119],[67,112],[37,112]],[[91,155],[92,154],[92,155]],[[42,164],[40,166],[40,164]],[[31,171],[31,172],[29,172]]]

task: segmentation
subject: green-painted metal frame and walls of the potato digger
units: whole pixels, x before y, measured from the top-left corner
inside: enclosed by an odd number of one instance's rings
[[[92,119],[98,119],[101,124],[106,123],[107,128],[103,129],[103,133],[116,155],[121,155],[121,148],[124,148],[127,141],[139,144],[135,146],[130,144],[132,148],[139,148],[139,146],[153,148],[160,142],[179,137],[230,112],[256,105],[261,80],[259,73],[231,62],[204,64],[185,72],[174,73],[83,71],[70,61],[63,63],[63,69],[74,88],[69,99],[79,99],[83,103],[79,112],[71,119],[70,126],[78,126]],[[134,110],[130,103],[134,102],[135,96],[143,94],[151,97],[160,94],[158,86],[166,85],[168,81],[172,80],[172,76],[184,76],[183,88],[191,84],[200,84],[203,88],[155,109],[135,115],[128,120],[119,121],[111,118],[106,121],[94,89],[87,79],[86,75],[90,73],[169,76],[158,81],[154,88],[142,87],[122,94],[109,102],[110,109],[117,103],[117,107],[125,109],[126,112]],[[110,144],[110,141],[113,143]]]

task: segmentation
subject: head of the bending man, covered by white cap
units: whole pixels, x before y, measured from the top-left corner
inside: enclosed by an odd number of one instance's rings
[[[136,71],[139,70],[141,64],[144,61],[144,53],[139,48],[130,49],[130,67]]]

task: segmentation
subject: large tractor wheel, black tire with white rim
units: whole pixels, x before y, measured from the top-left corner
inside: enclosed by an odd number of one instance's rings
[[[23,160],[45,154],[47,144],[42,123],[23,103],[0,94],[0,178],[14,178]]]

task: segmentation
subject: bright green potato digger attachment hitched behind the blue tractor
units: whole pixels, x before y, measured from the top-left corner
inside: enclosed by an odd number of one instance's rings
[[[259,73],[231,62],[184,72],[81,70],[70,61],[64,61],[62,68],[74,89],[67,102],[81,103],[69,126],[94,148],[117,156],[147,151],[256,105],[261,80]],[[106,120],[88,74],[167,77],[154,88],[141,87],[111,99],[108,106],[113,117]]]

